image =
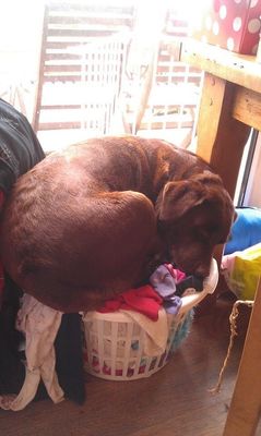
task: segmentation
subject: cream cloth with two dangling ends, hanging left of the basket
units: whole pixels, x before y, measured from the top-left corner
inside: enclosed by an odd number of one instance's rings
[[[61,312],[24,294],[16,328],[25,335],[25,379],[17,397],[0,397],[0,408],[13,411],[24,409],[34,399],[40,378],[55,403],[63,400],[63,390],[56,374],[54,347],[61,316]]]

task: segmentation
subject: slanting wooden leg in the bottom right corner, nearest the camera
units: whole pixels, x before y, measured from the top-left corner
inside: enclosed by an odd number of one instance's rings
[[[223,436],[253,436],[261,413],[261,280]]]

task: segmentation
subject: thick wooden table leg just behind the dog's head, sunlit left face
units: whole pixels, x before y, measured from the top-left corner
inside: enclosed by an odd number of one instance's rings
[[[233,83],[205,73],[198,123],[197,154],[211,164],[234,196],[250,128],[233,118]]]

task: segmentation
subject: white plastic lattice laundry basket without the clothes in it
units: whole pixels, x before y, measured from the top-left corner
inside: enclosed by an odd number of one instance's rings
[[[187,336],[191,310],[209,293],[213,293],[218,281],[218,269],[212,261],[210,276],[203,290],[182,296],[178,315],[168,316],[166,349],[159,354],[145,352],[146,332],[126,313],[88,312],[83,315],[84,367],[96,377],[110,380],[133,380],[149,377],[161,370],[175,349]]]

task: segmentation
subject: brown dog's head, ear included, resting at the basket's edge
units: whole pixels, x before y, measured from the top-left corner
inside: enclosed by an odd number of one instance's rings
[[[235,219],[221,178],[204,171],[166,183],[156,210],[170,261],[187,274],[206,277],[214,249],[226,242]]]

